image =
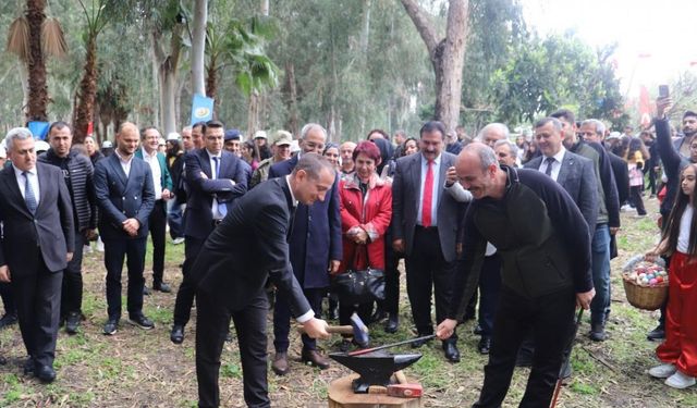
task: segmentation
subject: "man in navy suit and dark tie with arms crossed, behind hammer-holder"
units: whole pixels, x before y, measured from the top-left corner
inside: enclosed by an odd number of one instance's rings
[[[188,279],[192,263],[208,235],[232,209],[233,201],[247,191],[243,161],[222,149],[225,133],[222,123],[209,121],[203,125],[203,132],[205,148],[184,158],[188,194],[184,212],[184,279],[176,293],[170,333],[175,344],[184,341],[184,326],[194,304],[195,287]]]

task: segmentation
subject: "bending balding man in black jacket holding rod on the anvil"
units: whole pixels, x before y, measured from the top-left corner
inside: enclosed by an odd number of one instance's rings
[[[455,164],[475,197],[465,215],[462,268],[439,338],[452,335],[477,287],[473,268],[487,242],[502,260],[501,293],[485,380],[475,407],[500,407],[523,337],[534,333],[535,358],[522,407],[547,407],[572,335],[574,306],[588,309],[595,295],[590,235],[580,211],[550,177],[535,170],[499,166],[493,150],[467,145]]]

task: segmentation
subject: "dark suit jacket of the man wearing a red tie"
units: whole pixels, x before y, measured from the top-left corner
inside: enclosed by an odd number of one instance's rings
[[[455,260],[455,240],[462,208],[466,205],[455,201],[445,193],[448,168],[455,165],[456,156],[441,152],[438,178],[438,237],[443,258],[447,262]],[[398,159],[392,182],[392,239],[404,239],[405,252],[412,254],[414,231],[418,212],[418,198],[421,188],[421,153]]]

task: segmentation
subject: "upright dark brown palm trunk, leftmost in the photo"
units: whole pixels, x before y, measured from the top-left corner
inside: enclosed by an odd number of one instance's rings
[[[27,121],[48,121],[48,87],[46,86],[46,60],[41,49],[41,28],[46,21],[46,0],[27,0],[26,18],[29,24],[29,58],[27,60],[29,98]]]

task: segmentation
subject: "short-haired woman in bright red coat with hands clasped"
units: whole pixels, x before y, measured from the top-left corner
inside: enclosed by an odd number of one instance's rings
[[[377,174],[380,149],[370,141],[360,141],[353,151],[355,173],[339,184],[343,260],[339,273],[348,269],[384,270],[384,233],[392,218],[392,186]],[[339,306],[339,321],[350,324],[354,311],[364,321],[370,317],[372,302]],[[342,348],[347,348],[344,341]]]

